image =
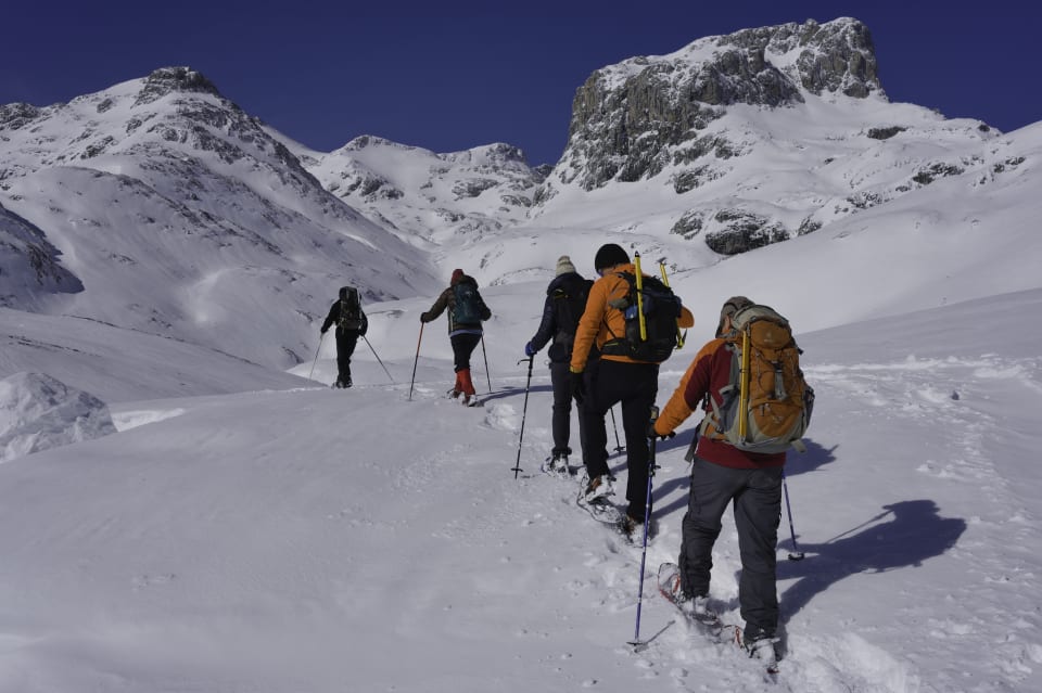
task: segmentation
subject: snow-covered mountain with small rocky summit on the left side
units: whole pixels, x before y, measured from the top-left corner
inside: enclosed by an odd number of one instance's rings
[[[238,355],[272,367],[309,358],[342,284],[369,300],[436,286],[423,253],[325,190],[188,68],[0,107],[0,192],[25,222],[4,222],[0,238],[38,232],[29,262],[54,278],[29,294],[0,277],[5,305],[209,347],[234,333]],[[45,241],[71,277],[49,269]]]

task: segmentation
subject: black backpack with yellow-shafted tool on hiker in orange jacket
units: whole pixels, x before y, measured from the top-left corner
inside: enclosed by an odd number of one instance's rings
[[[624,334],[612,333],[602,354],[627,356],[637,361],[661,363],[673,355],[681,336],[677,320],[681,317],[681,299],[673,290],[655,277],[640,278],[640,298],[637,300],[637,280],[631,272],[618,272],[628,282],[630,290],[622,298],[608,301],[612,308],[623,311],[626,319]],[[637,306],[644,309],[645,336],[640,335],[640,318]]]

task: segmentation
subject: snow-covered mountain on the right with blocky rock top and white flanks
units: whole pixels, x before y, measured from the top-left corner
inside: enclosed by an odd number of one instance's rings
[[[984,123],[890,103],[861,22],[808,21],[595,72],[576,91],[568,146],[532,216],[567,227],[583,201],[585,224],[734,255],[945,177],[983,184],[1022,162]],[[606,219],[598,211],[611,200],[634,214]]]

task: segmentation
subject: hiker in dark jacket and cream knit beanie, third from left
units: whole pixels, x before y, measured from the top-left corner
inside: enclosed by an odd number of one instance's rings
[[[550,459],[544,465],[545,472],[568,474],[568,457],[572,453],[569,447],[572,419],[572,390],[569,382],[568,368],[572,358],[572,344],[575,341],[575,329],[579,319],[586,308],[586,297],[594,282],[575,271],[575,266],[569,256],[562,255],[557,259],[556,277],[546,287],[546,300],[543,303],[543,319],[539,326],[528,344],[524,345],[524,355],[534,357],[548,342],[547,357],[550,359],[550,385],[554,389],[554,409],[551,424],[554,431],[554,449]],[[579,440],[583,445],[586,424],[582,413],[579,416]]]

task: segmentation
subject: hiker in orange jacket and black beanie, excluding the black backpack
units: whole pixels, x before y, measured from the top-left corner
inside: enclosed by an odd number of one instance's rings
[[[608,243],[597,251],[594,268],[600,275],[589,291],[586,310],[575,332],[570,362],[571,386],[582,402],[580,415],[585,423],[583,463],[588,483],[586,502],[605,502],[613,493],[614,480],[608,469],[608,433],[605,415],[622,402],[622,425],[626,436],[626,513],[623,529],[632,534],[644,526],[648,487],[647,427],[659,389],[659,364],[628,356],[606,354],[605,345],[625,334],[625,316],[619,305],[630,291],[622,272],[636,274],[636,267],[619,245]],[[690,311],[683,309],[678,326],[694,324]],[[611,349],[609,349],[611,350]],[[600,351],[599,359],[590,355]]]

